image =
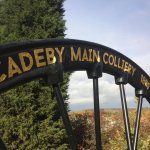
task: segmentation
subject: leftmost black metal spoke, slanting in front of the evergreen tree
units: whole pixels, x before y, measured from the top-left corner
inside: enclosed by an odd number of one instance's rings
[[[69,139],[71,149],[77,150],[78,148],[77,148],[76,138],[75,138],[73,131],[72,131],[72,126],[71,126],[71,123],[70,123],[70,120],[68,117],[68,113],[67,113],[66,108],[65,108],[65,104],[64,104],[64,100],[63,100],[63,97],[62,97],[62,94],[60,91],[60,87],[58,84],[55,84],[55,85],[53,85],[53,89],[54,89],[54,93],[56,95],[56,99],[57,99],[60,113],[62,115],[62,120],[63,120],[64,126],[66,128],[66,132],[68,134],[68,139]]]

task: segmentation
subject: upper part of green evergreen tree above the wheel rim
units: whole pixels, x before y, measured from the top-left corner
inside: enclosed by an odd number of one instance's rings
[[[63,37],[63,0],[0,1],[1,43]]]

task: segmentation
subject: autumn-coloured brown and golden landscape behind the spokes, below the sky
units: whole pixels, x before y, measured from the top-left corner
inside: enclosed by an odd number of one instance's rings
[[[80,150],[94,150],[95,129],[93,110],[70,112]],[[127,149],[122,109],[101,109],[102,145],[105,150]],[[129,109],[131,134],[134,134],[136,109]],[[150,108],[142,109],[138,149],[150,149]]]

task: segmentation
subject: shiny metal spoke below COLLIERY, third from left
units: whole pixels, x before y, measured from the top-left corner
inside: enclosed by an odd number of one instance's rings
[[[130,123],[129,123],[128,108],[127,108],[124,85],[120,84],[119,88],[120,88],[120,96],[121,96],[121,103],[122,103],[127,145],[128,145],[128,149],[132,150],[131,131],[130,131]]]

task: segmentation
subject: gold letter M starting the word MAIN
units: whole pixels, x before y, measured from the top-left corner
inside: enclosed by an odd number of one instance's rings
[[[74,48],[71,47],[71,61],[81,61],[81,48],[78,47],[77,53],[75,53]]]

